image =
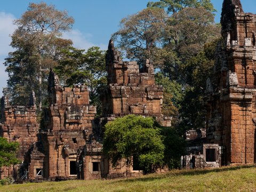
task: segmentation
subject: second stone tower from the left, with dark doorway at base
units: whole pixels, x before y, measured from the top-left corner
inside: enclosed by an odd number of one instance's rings
[[[41,133],[46,147],[44,174],[52,179],[77,178],[78,157],[90,142],[96,107],[89,105],[86,86],[62,87],[53,71],[48,91],[50,107],[45,109]]]

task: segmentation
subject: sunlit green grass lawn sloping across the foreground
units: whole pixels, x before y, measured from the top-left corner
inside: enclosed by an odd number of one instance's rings
[[[0,191],[256,191],[256,166],[175,170],[140,178],[25,183]]]

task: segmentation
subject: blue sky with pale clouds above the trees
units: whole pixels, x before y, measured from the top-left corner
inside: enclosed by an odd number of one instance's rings
[[[156,1],[156,0],[154,0]],[[2,0],[0,6],[0,95],[2,87],[6,86],[7,74],[2,65],[8,52],[10,34],[15,26],[12,21],[20,18],[27,10],[29,2],[39,3],[38,0]],[[129,14],[136,13],[147,6],[148,0],[46,0],[47,4],[53,4],[59,10],[67,10],[75,19],[75,25],[65,38],[73,40],[74,45],[81,49],[91,46],[100,46],[106,49],[111,34],[118,30],[119,21]],[[217,9],[215,21],[220,21],[222,0],[212,0]],[[241,0],[245,12],[256,13],[255,0]]]

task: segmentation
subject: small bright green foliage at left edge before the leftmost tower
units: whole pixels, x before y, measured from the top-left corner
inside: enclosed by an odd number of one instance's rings
[[[16,157],[18,149],[18,142],[8,142],[6,138],[0,137],[0,168],[20,163]]]

